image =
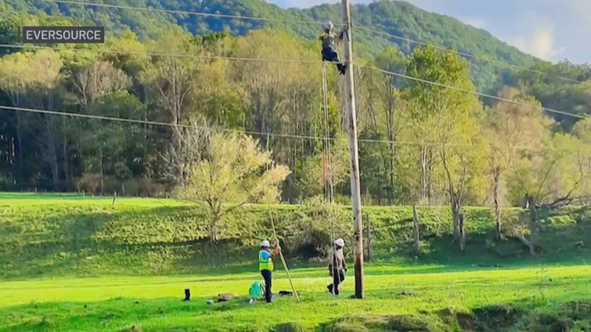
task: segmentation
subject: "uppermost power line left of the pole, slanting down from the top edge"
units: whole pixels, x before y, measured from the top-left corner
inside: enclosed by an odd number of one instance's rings
[[[320,21],[304,21],[300,19],[282,19],[282,18],[269,18],[269,17],[254,17],[254,16],[242,16],[242,15],[230,15],[230,14],[214,14],[209,12],[197,12],[197,11],[181,11],[174,9],[163,9],[163,8],[151,8],[151,7],[137,7],[137,6],[124,6],[124,5],[109,5],[109,4],[96,4],[93,2],[78,2],[78,1],[67,1],[67,0],[37,0],[41,2],[53,2],[56,4],[69,4],[69,5],[82,5],[82,6],[96,6],[103,8],[118,8],[118,9],[129,9],[129,10],[142,10],[151,12],[166,12],[168,14],[184,14],[184,15],[195,15],[201,17],[217,17],[217,18],[235,18],[235,19],[250,19],[252,21],[267,21],[267,22],[287,22],[296,24],[322,24]],[[343,25],[335,24],[335,25]]]

